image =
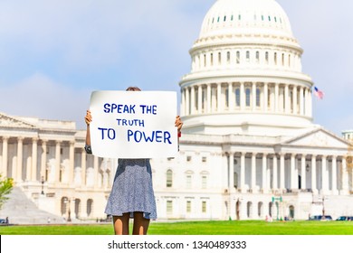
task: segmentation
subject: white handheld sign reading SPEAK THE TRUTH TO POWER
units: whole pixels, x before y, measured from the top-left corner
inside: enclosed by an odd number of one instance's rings
[[[90,110],[93,155],[176,156],[176,92],[93,91]]]

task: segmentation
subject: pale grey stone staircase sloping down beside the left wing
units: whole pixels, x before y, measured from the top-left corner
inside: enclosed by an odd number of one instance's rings
[[[8,217],[10,224],[48,224],[65,223],[62,217],[50,212],[38,209],[33,201],[27,198],[20,187],[14,187],[12,192],[7,195],[0,210],[0,219]]]

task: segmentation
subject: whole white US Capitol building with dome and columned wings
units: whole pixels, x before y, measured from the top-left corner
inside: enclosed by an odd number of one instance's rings
[[[179,82],[180,153],[151,160],[158,219],[353,215],[353,131],[313,124],[302,52],[274,0],[215,1]],[[117,160],[84,141],[74,122],[0,113],[1,173],[39,210],[105,219]]]

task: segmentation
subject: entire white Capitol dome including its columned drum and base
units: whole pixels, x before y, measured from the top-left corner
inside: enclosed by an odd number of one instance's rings
[[[278,136],[312,125],[313,83],[276,1],[215,1],[189,53],[179,82],[186,132]]]

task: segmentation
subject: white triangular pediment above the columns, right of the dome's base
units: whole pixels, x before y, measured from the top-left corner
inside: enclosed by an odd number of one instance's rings
[[[348,148],[349,146],[347,141],[323,128],[317,128],[301,136],[296,136],[290,140],[287,140],[283,144],[334,148]]]

